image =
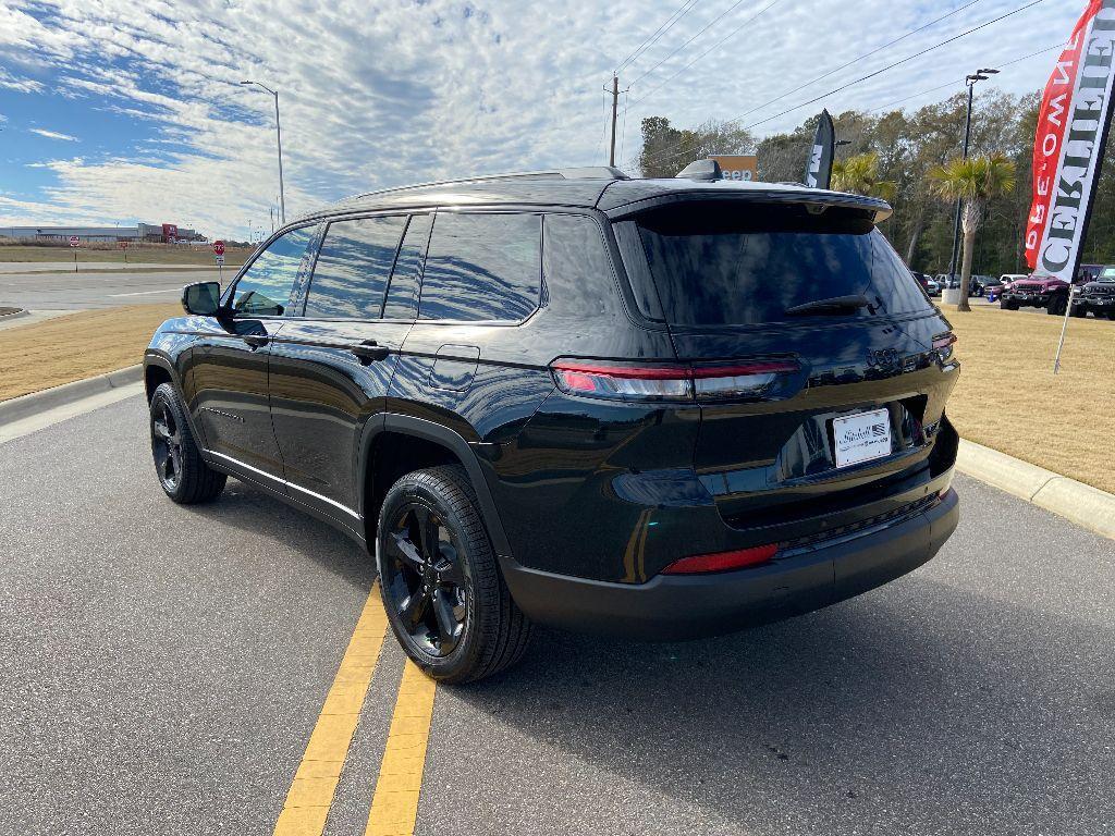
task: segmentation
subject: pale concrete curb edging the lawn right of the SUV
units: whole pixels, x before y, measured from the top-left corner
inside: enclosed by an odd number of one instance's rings
[[[1115,495],[1105,490],[963,439],[957,469],[1115,539]]]

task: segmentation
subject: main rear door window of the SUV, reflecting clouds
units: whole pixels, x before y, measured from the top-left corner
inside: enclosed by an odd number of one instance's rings
[[[379,319],[406,217],[329,224],[306,302],[307,317]]]

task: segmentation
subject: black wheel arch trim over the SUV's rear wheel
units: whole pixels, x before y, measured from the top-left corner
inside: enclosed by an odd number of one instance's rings
[[[476,494],[492,547],[500,556],[511,556],[507,534],[479,460],[458,432],[423,418],[387,414],[381,421],[369,422],[365,428],[359,455],[361,478],[357,480],[357,500],[363,514],[369,548],[376,542],[376,525],[384,496],[400,476],[424,467],[459,464]]]

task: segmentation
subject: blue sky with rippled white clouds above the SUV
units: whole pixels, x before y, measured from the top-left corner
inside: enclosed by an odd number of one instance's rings
[[[633,167],[644,116],[691,126],[746,114],[740,124],[762,135],[821,107],[917,107],[962,90],[980,66],[1065,40],[1085,4],[0,0],[0,226],[270,227],[273,101],[242,79],[280,90],[293,216],[381,186],[604,163],[602,87],[621,65],[619,157]],[[997,84],[1038,89],[1055,55],[1010,64]]]

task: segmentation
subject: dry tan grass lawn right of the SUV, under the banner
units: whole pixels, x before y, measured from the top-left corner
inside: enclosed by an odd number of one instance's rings
[[[1061,317],[998,307],[958,313],[960,380],[949,417],[963,438],[1115,493],[1115,322],[1069,319],[1060,372],[1053,361]]]

